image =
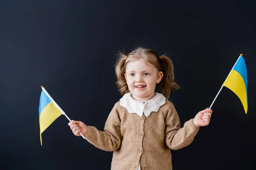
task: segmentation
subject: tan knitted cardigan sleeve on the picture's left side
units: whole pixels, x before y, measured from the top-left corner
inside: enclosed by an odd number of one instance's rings
[[[85,139],[93,144],[95,147],[106,151],[117,150],[122,142],[120,132],[120,117],[118,108],[119,104],[115,104],[108,119],[105,123],[104,131],[97,130],[96,127],[87,126],[88,134]],[[124,109],[123,109],[124,110]]]

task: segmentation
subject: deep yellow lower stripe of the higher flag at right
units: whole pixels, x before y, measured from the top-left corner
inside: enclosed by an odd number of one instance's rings
[[[247,113],[247,94],[244,79],[241,75],[236,70],[232,70],[222,86],[229,88],[239,97],[243,104],[244,111]]]

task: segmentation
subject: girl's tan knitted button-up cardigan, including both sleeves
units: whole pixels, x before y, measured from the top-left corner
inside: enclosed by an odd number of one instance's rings
[[[166,100],[148,117],[131,114],[116,102],[105,123],[104,131],[88,126],[85,139],[102,150],[114,151],[111,170],[172,170],[170,149],[189,145],[199,128],[192,119],[180,128],[174,105]]]

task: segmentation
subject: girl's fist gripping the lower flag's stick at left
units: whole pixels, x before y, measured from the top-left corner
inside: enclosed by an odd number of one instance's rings
[[[81,136],[80,132],[84,135],[87,136],[88,133],[88,127],[81,121],[76,121],[72,120],[71,122],[68,123],[70,126],[70,129],[76,136]]]

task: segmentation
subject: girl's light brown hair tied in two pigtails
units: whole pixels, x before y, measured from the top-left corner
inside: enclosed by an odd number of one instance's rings
[[[172,60],[169,59],[169,57],[166,55],[159,57],[158,54],[151,49],[138,47],[131,51],[128,55],[125,55],[120,51],[119,54],[117,54],[115,65],[117,78],[116,85],[122,96],[130,92],[125,79],[125,67],[129,62],[137,59],[143,59],[144,62],[149,62],[154,65],[158,71],[163,72],[163,78],[161,82],[157,84],[157,86],[160,86],[160,93],[163,94],[166,99],[169,98],[173,90],[180,88],[180,86],[174,82],[174,68]]]

